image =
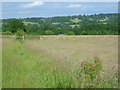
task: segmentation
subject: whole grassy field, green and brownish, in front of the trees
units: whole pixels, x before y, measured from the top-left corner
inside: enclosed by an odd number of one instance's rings
[[[2,44],[3,88],[118,87],[117,37],[52,38],[23,43],[3,39]],[[102,65],[97,75],[88,69],[96,70],[91,68],[95,57]],[[89,73],[83,72],[85,69]],[[91,74],[96,77],[91,78]]]

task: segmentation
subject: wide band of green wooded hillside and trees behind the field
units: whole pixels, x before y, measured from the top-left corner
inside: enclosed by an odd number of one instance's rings
[[[23,30],[32,35],[118,35],[117,14],[4,19],[3,34]]]

